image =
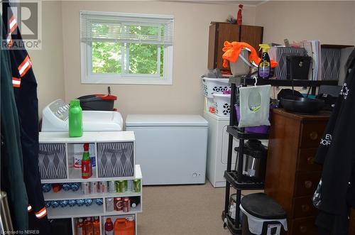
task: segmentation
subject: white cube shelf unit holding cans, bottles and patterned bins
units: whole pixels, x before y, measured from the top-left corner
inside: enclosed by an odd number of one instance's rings
[[[50,173],[47,173],[47,178],[41,179],[41,182],[44,183],[64,183],[64,182],[94,182],[94,181],[111,181],[111,180],[141,180],[142,182],[142,173],[140,165],[135,165],[135,137],[133,131],[107,131],[107,132],[84,132],[82,137],[78,138],[69,138],[67,132],[40,132],[39,134],[39,143],[40,143],[40,171],[41,175],[45,175],[50,169]],[[94,157],[96,162],[96,167],[93,168],[93,175],[88,179],[82,179],[81,170],[74,168],[74,155],[75,153],[74,146],[77,144],[84,143],[94,143]],[[111,145],[112,143],[112,145]],[[121,144],[118,146],[117,144]],[[42,146],[41,146],[42,145]],[[101,148],[101,152],[98,158],[98,146]],[[99,159],[102,159],[104,152],[102,149],[106,146],[111,145],[111,152],[120,152],[124,155],[124,159],[129,159],[129,166],[131,168],[129,176],[122,177],[99,177]],[[105,150],[105,149],[104,149]],[[53,151],[52,154],[50,151]],[[109,153],[111,153],[109,152]],[[128,155],[129,154],[129,155]],[[121,155],[118,155],[120,157]],[[91,156],[90,156],[91,157]],[[101,157],[101,158],[100,158]],[[54,159],[54,160],[53,160]],[[104,162],[107,161],[104,159]],[[42,165],[41,165],[42,164]],[[60,169],[58,166],[60,165]],[[42,167],[42,168],[41,168]],[[102,170],[106,168],[102,168]],[[111,168],[118,169],[118,168]],[[103,173],[101,170],[101,174]],[[58,177],[58,173],[61,173],[61,177]],[[116,170],[114,170],[116,173]],[[48,176],[49,175],[49,176]],[[102,205],[97,205],[95,202],[92,202],[90,206],[82,205],[78,207],[48,207],[47,214],[49,219],[64,219],[72,218],[72,233],[75,234],[75,222],[77,218],[84,217],[99,217],[100,227],[102,229],[101,234],[104,234],[104,219],[107,217],[133,217],[135,220],[135,234],[137,234],[137,217],[136,214],[142,212],[142,183],[141,183],[141,192],[124,192],[124,193],[102,193],[102,194],[89,194],[84,195],[82,190],[77,191],[64,191],[60,190],[59,192],[50,192],[43,193],[45,201],[54,201],[54,200],[78,200],[78,199],[97,199],[101,198],[103,200]],[[106,211],[106,199],[114,197],[139,197],[139,203],[136,207],[131,208],[129,212],[123,211]],[[113,221],[114,222],[114,221]]]

